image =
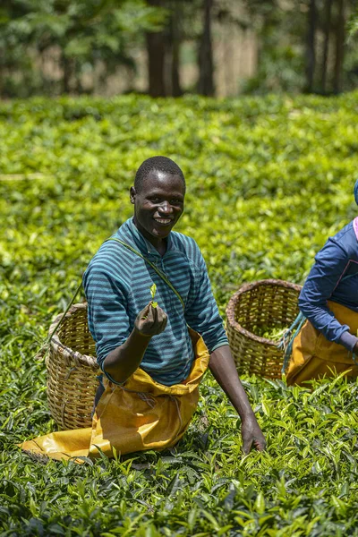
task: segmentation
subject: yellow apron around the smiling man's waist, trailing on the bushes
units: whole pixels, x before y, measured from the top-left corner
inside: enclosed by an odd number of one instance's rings
[[[54,459],[79,456],[108,457],[172,447],[183,437],[198,405],[199,384],[209,365],[209,351],[202,337],[190,329],[195,359],[187,379],[164,386],[138,368],[117,386],[104,379],[105,391],[98,401],[92,427],[60,430],[23,442],[21,448]]]

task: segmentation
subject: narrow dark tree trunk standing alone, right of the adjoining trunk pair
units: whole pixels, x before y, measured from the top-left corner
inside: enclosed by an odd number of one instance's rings
[[[200,38],[199,47],[199,82],[198,92],[201,95],[212,96],[214,87],[214,62],[211,38],[211,8],[213,0],[203,0],[204,29]]]

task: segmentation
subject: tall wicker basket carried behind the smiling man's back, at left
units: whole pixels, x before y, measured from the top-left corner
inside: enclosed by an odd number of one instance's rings
[[[49,334],[61,317],[54,320]],[[90,427],[99,370],[86,303],[74,304],[64,317],[51,340],[46,365],[48,405],[58,427]]]

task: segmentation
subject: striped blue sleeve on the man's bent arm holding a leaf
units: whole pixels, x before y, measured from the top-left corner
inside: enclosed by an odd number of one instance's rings
[[[108,353],[123,345],[130,335],[125,288],[103,268],[90,266],[83,276],[88,302],[90,333],[96,342],[97,362],[101,370]],[[113,380],[113,379],[110,379]]]

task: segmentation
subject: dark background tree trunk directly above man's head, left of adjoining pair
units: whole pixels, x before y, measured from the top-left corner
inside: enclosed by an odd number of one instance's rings
[[[149,0],[149,5],[163,7],[163,0]],[[166,96],[165,59],[166,35],[164,31],[147,32],[148,92],[151,97]]]

